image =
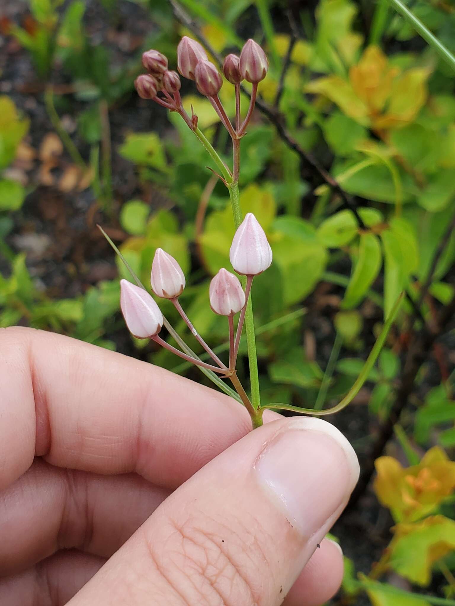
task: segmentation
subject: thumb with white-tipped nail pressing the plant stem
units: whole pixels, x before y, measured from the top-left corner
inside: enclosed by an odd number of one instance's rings
[[[167,498],[69,604],[281,604],[358,475],[328,422],[268,423]]]

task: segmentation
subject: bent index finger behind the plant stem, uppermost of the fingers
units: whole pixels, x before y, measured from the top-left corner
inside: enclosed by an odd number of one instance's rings
[[[217,391],[32,328],[0,329],[0,381],[0,488],[35,456],[175,488],[251,428]]]

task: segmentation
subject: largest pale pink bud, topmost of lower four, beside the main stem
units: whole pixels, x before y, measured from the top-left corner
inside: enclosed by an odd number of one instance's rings
[[[252,213],[238,226],[229,251],[232,267],[245,276],[257,276],[272,263],[272,249],[265,231]]]

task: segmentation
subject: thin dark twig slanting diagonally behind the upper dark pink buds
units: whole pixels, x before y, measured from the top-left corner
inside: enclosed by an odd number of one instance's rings
[[[192,33],[194,33],[196,39],[205,48],[207,48],[209,53],[213,56],[213,58],[217,62],[218,67],[221,68],[221,66],[223,65],[223,58],[221,57],[221,55],[219,53],[217,53],[215,51],[215,49],[207,41],[205,36],[203,36],[198,25],[187,14],[187,12],[185,10],[183,10],[183,8],[180,6],[180,4],[178,4],[177,0],[169,0],[169,2],[172,5],[172,8],[174,9],[174,15],[177,18],[177,20],[180,21],[182,25],[187,27]],[[241,90],[244,93],[244,95],[251,97],[251,94],[248,92],[248,90],[246,90],[246,88],[241,86]],[[335,191],[340,196],[340,198],[342,199],[343,208],[347,208],[348,210],[350,210],[352,212],[352,214],[356,217],[356,221],[359,224],[359,227],[361,229],[366,229],[366,225],[362,221],[362,217],[360,217],[359,213],[357,212],[357,208],[356,208],[356,205],[354,204],[354,202],[351,200],[351,198],[348,196],[348,194],[343,190],[343,188],[336,181],[336,179],[334,179],[331,175],[329,175],[329,173],[325,170],[325,168],[323,168],[310,153],[308,153],[302,147],[300,147],[300,145],[297,143],[297,141],[295,141],[295,139],[293,139],[289,135],[289,133],[287,132],[287,130],[285,129],[285,127],[283,126],[283,124],[281,122],[280,113],[278,113],[278,111],[275,108],[272,108],[265,102],[260,101],[260,99],[257,99],[256,107],[263,113],[263,115],[265,115],[269,119],[269,121],[272,122],[272,124],[277,129],[278,135],[286,143],[286,145],[288,145],[289,148],[294,150],[295,153],[297,153],[297,155],[300,156],[300,159],[303,162],[305,162],[306,164],[308,164],[309,167],[311,167],[313,173],[315,175],[317,175],[318,178],[322,179],[322,181],[325,182],[331,188],[332,191]]]

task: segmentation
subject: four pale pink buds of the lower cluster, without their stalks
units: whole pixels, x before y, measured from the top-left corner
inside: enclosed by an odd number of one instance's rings
[[[246,215],[235,232],[229,258],[238,274],[250,278],[271,265],[271,247],[263,228],[252,213]],[[155,295],[174,301],[185,288],[185,276],[180,265],[161,248],[157,249],[153,258],[150,284]],[[138,339],[157,335],[163,325],[163,315],[152,296],[126,280],[121,280],[120,285],[120,306],[132,335]],[[240,281],[224,268],[212,279],[209,296],[212,310],[221,316],[233,316],[246,305]]]

